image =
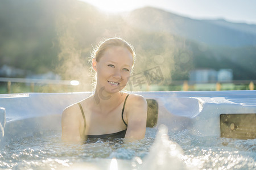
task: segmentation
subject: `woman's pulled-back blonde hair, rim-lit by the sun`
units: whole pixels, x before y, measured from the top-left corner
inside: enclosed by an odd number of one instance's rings
[[[133,45],[131,45],[129,42],[119,38],[119,37],[114,37],[114,38],[110,38],[110,39],[106,39],[105,41],[100,42],[100,44],[98,46],[96,46],[96,48],[93,49],[93,52],[90,56],[90,64],[92,65],[92,60],[93,58],[96,59],[97,62],[100,61],[101,57],[104,55],[105,51],[113,46],[122,46],[124,48],[127,48],[131,54],[133,55],[133,66],[135,63],[135,59],[136,59],[136,54],[135,54],[135,50]],[[133,71],[133,66],[131,71]],[[92,81],[92,85],[94,87],[94,90],[96,88],[96,82],[97,82],[97,74],[95,73],[94,69],[92,67],[90,67],[90,71],[93,73],[93,81]]]

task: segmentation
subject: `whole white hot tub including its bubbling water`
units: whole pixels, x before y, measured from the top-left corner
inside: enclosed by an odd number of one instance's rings
[[[133,93],[158,102],[146,137],[85,145],[61,142],[61,113],[90,92],[0,95],[0,168],[255,169],[255,91]],[[228,120],[238,115],[243,122]],[[249,138],[232,134],[240,123],[251,127],[242,131]]]

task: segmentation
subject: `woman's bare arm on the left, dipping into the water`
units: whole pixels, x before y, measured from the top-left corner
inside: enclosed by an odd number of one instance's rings
[[[80,121],[79,116],[77,116],[77,104],[71,105],[65,108],[62,113],[61,126],[62,135],[61,139],[68,143],[81,143],[80,137]]]

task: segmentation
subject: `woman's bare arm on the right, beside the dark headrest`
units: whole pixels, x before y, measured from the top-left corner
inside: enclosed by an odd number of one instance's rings
[[[130,104],[127,112],[128,127],[125,141],[143,139],[147,124],[147,101],[141,95],[130,95]]]

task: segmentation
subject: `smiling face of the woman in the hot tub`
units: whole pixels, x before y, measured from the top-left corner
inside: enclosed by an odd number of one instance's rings
[[[97,71],[97,88],[103,88],[98,90],[114,93],[125,88],[133,66],[131,52],[127,48],[113,46],[99,60],[93,61],[93,68]]]

